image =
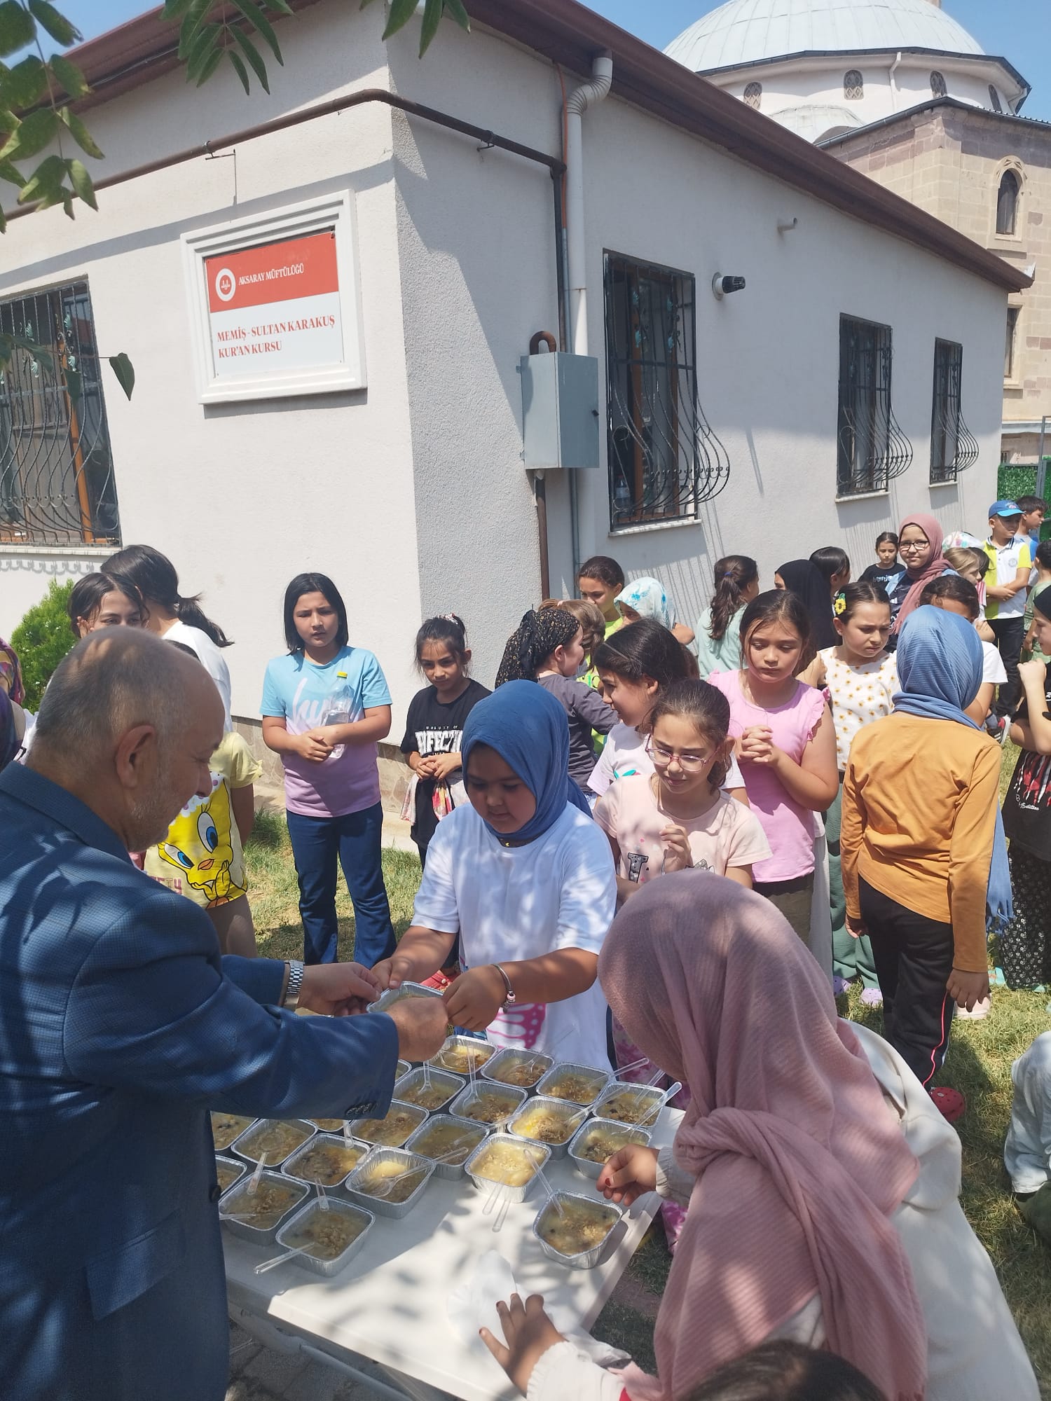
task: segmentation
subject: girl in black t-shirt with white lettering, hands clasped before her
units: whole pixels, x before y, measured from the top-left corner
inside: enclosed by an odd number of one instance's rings
[[[416,665],[430,685],[412,698],[401,741],[401,752],[416,775],[411,835],[420,863],[427,859],[427,845],[439,824],[434,807],[439,785],[444,786],[446,793],[439,793],[444,800],[454,785],[462,782],[460,737],[464,720],[489,695],[485,686],[469,678],[469,664],[471,649],[461,619],[455,614],[427,618],[416,633]]]

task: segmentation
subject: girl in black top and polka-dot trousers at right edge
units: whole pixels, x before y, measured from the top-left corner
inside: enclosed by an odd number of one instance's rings
[[[1051,588],[1037,594],[1033,629],[1040,650],[1051,653]],[[1022,747],[1003,800],[1003,831],[1010,838],[1015,918],[1001,934],[1009,988],[1051,984],[1051,675],[1038,658],[1019,667],[1023,700],[1010,727]]]

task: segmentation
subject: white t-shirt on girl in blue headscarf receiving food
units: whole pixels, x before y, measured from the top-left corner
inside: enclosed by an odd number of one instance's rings
[[[504,846],[471,806],[439,822],[413,923],[460,933],[468,968],[518,962],[558,948],[600,953],[617,908],[612,853],[590,817],[566,804],[535,842]],[[605,999],[587,992],[547,1006],[516,1005],[486,1031],[499,1047],[604,1068]]]

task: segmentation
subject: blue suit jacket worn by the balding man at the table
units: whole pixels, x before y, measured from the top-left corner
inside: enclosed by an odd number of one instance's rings
[[[390,1017],[273,1006],[203,909],[21,765],[0,775],[0,1394],[221,1401],[210,1108],[383,1115]]]

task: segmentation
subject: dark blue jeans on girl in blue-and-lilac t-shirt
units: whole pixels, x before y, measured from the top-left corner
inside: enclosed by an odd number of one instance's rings
[[[343,817],[289,813],[289,836],[300,883],[303,961],[336,961],[336,862],[355,906],[355,960],[371,968],[394,953],[394,926],[380,859],[383,807]]]

